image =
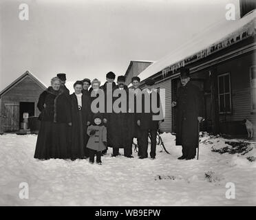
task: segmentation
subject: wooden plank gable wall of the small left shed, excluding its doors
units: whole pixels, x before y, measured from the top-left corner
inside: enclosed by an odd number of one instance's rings
[[[34,102],[35,116],[39,115],[39,110],[36,108],[36,104],[39,99],[39,95],[43,92],[43,89],[37,85],[32,78],[25,76],[21,82],[17,83],[6,94],[1,96],[1,115],[4,115],[4,104],[12,103],[19,104],[19,102]],[[1,117],[1,127],[4,124],[4,119]],[[3,129],[3,127],[1,128]]]

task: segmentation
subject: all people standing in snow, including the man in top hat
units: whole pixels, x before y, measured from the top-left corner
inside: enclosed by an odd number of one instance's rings
[[[88,78],[78,80],[71,95],[65,87],[65,74],[52,78],[51,86],[43,91],[37,104],[41,111],[41,127],[34,157],[72,160],[89,157],[89,162],[94,163],[96,155],[96,162],[101,164],[101,156],[107,153],[108,147],[113,148],[113,157],[120,155],[120,148],[124,149],[125,157],[133,157],[132,145],[136,137],[138,157],[145,159],[148,157],[150,133],[150,157],[155,159],[157,131],[164,121],[160,94],[152,89],[155,81],[148,78],[141,90],[138,76],[131,78],[132,87],[129,89],[125,85],[125,76],[118,76],[117,83],[115,78],[113,72],[108,72],[107,81],[101,86],[98,79],[92,82]],[[190,82],[189,69],[180,69],[180,81],[177,100],[172,102],[177,112],[176,145],[182,145],[182,156],[178,159],[193,159],[198,147],[198,128],[203,120],[202,93]],[[99,91],[102,91],[102,99],[98,99]],[[122,92],[127,96],[118,101]],[[134,95],[131,96],[134,98],[134,111],[129,108],[131,92]],[[98,104],[95,107],[96,101]],[[149,102],[149,109],[146,102]],[[156,102],[159,111],[153,109],[153,102]],[[113,110],[115,105],[118,111],[109,111],[109,107]],[[141,109],[137,108],[138,105]],[[154,118],[156,115],[158,118]]]

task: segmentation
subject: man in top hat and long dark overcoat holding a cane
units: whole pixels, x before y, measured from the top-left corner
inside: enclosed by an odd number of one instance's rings
[[[182,145],[182,156],[178,159],[195,158],[198,147],[198,126],[203,119],[203,98],[200,89],[190,81],[189,69],[180,69],[181,86],[178,88],[176,145]]]

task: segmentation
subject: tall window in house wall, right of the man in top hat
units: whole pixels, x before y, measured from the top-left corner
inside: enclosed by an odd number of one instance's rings
[[[217,76],[219,112],[231,113],[231,77],[230,74]]]

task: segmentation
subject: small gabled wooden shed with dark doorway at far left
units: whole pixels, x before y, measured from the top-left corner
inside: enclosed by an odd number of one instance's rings
[[[0,92],[0,133],[19,131],[23,113],[37,117],[39,95],[46,89],[33,74],[26,71]]]

